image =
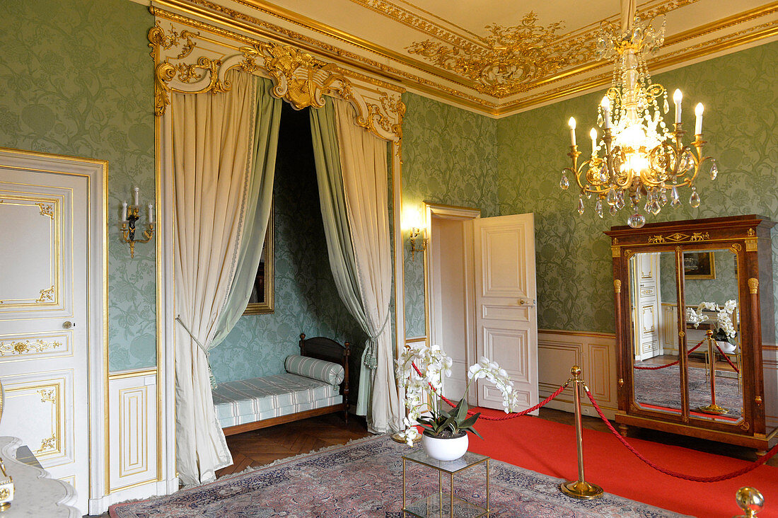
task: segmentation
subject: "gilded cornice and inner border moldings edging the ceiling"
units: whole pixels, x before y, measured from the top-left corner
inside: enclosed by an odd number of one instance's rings
[[[649,0],[640,4],[640,11],[643,16],[653,17],[698,1]],[[230,2],[244,9],[242,11],[230,9],[228,6]],[[469,33],[453,23],[447,27],[446,24],[449,22],[446,20],[425,19],[416,13],[425,11],[410,2],[402,2],[409,9],[399,7],[393,0],[351,0],[351,2],[363,5],[365,9],[373,12],[380,12],[388,19],[397,19],[399,23],[404,23],[406,26],[415,26],[420,33],[428,34],[436,40],[446,41],[452,47],[463,49],[482,47],[478,44],[479,38],[482,39],[478,35]],[[169,19],[203,32],[218,34],[230,41],[240,41],[244,45],[254,44],[257,41],[253,39],[254,37],[289,44],[328,62],[347,67],[350,79],[356,79],[361,75],[362,78],[370,78],[368,82],[373,85],[387,90],[403,90],[399,86],[392,85],[391,82],[394,81],[423,95],[498,118],[553,102],[562,97],[593,90],[604,86],[610,79],[609,74],[602,73],[605,72],[607,62],[584,60],[576,64],[573,59],[570,65],[562,66],[556,72],[540,79],[536,78],[528,87],[524,83],[517,83],[513,86],[513,90],[506,87],[494,92],[499,94],[498,97],[489,92],[479,91],[476,89],[477,83],[466,76],[457,76],[454,72],[421,58],[380,47],[373,42],[299,13],[282,9],[265,0],[224,0],[219,3],[213,0],[152,0],[152,3],[156,5],[152,6],[152,13],[158,19]],[[169,10],[160,9],[159,6]],[[764,37],[772,37],[773,28],[769,24],[774,25],[775,22],[741,30],[736,33],[736,36],[731,33],[728,36],[718,37],[713,44],[710,42],[690,44],[692,39],[711,37],[716,31],[732,31],[739,23],[753,23],[760,16],[772,16],[775,10],[776,4],[773,2],[725,19],[714,20],[703,26],[686,30],[684,33],[668,36],[665,47],[675,45],[685,46],[685,48],[671,51],[671,55],[660,55],[657,64],[653,66],[662,68],[679,65],[706,55],[728,51]],[[430,13],[426,14],[434,17]],[[617,18],[618,16],[611,16],[601,20],[600,23],[614,23]],[[280,22],[282,25],[272,22]],[[594,44],[594,33],[600,23],[593,23],[571,33],[561,34],[555,44],[560,48],[587,48]],[[300,27],[303,33],[289,28],[291,26]],[[461,34],[459,34],[460,30]],[[195,70],[195,72],[199,73],[202,70]],[[385,79],[384,84],[379,85],[378,83],[382,81],[377,78]],[[359,79],[359,82],[363,80]],[[555,87],[555,83],[566,84]],[[374,104],[375,101],[377,99],[374,100]]]

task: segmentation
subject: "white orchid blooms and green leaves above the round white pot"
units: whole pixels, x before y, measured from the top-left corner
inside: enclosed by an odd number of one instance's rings
[[[413,446],[414,440],[419,437],[417,424],[424,428],[426,435],[433,437],[458,437],[466,432],[481,437],[473,428],[481,413],[468,416],[468,390],[476,379],[492,382],[503,393],[506,413],[518,406],[518,395],[513,390],[508,373],[495,362],[482,357],[468,369],[468,385],[457,406],[447,410],[440,391],[443,389],[443,376],[451,375],[451,365],[451,358],[438,345],[427,346],[423,342],[409,344],[398,358],[398,384],[400,389],[405,389],[405,406],[408,407],[408,417],[403,421],[405,432],[401,435],[408,446]]]

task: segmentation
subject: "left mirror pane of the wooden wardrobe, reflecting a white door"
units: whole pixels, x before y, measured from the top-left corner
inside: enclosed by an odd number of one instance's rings
[[[635,403],[646,410],[680,414],[675,280],[675,252],[643,252],[629,259]]]

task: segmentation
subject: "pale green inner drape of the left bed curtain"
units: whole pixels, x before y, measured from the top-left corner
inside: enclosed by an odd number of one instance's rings
[[[233,285],[224,305],[218,332],[211,348],[221,344],[235,327],[246,309],[254,287],[268,220],[273,202],[275,178],[275,153],[279,144],[279,125],[283,100],[276,99],[270,91],[270,79],[259,78],[257,87],[257,118],[254,127],[254,164],[246,203],[244,235],[238,252],[238,263]]]

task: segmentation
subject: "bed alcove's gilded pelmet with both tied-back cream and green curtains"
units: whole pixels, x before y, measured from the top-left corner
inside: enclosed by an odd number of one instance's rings
[[[401,265],[396,246],[393,265],[389,241],[398,235],[398,220],[391,232],[386,141],[393,143],[391,160],[398,166],[401,90],[290,46],[155,7],[152,12],[158,19],[149,41],[161,189],[164,205],[171,207],[161,231],[175,238],[167,253],[175,264],[169,304],[176,317],[170,333],[181,480],[209,481],[231,462],[211,404],[208,355],[243,314],[254,285],[272,204],[281,100],[296,109],[314,108],[310,125],[329,262],[340,298],[370,337],[357,414],[366,415],[375,432],[397,431],[401,404],[390,299],[393,268]],[[346,403],[325,407],[338,404]],[[261,412],[252,415],[259,418],[254,425],[265,421]]]

